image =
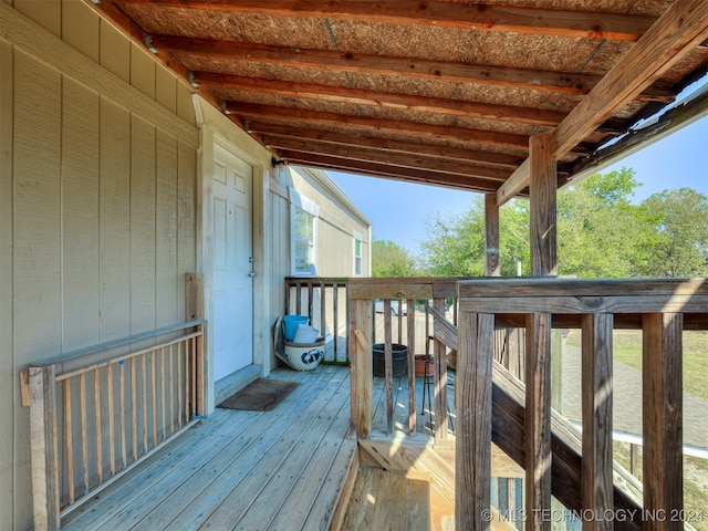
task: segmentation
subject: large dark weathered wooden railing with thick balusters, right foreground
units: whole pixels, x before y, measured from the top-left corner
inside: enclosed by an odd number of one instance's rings
[[[582,329],[583,529],[612,529],[615,521],[683,529],[681,336],[708,329],[708,281],[479,279],[460,282],[458,294],[456,529],[490,527],[494,329],[510,325],[527,334],[525,419],[513,428],[525,440],[527,529],[548,530],[552,521],[552,327]],[[613,494],[614,327],[643,331],[644,501],[642,511],[622,514]]]

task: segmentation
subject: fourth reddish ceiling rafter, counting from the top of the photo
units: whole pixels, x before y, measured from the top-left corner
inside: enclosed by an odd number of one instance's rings
[[[412,134],[415,136],[430,135],[450,142],[467,142],[471,144],[506,147],[512,149],[528,149],[528,136],[513,133],[493,131],[468,129],[445,125],[429,125],[419,122],[396,121],[385,118],[369,118],[339,113],[309,111],[303,108],[281,107],[275,105],[260,105],[252,103],[227,102],[226,112],[243,118],[248,125],[250,118],[263,123],[285,122],[300,125],[320,127],[337,127],[361,131],[375,131],[391,134]],[[413,131],[412,131],[413,129]]]

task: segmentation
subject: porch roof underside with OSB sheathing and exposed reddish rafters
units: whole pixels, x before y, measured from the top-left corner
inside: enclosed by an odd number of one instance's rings
[[[531,135],[562,185],[708,71],[698,0],[84,1],[275,159],[403,179],[413,160],[500,201],[528,189]]]

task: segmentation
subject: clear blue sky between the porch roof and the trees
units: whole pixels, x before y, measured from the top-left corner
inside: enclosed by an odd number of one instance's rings
[[[642,183],[635,201],[666,189],[693,188],[708,196],[708,116],[608,166],[602,173],[633,168]],[[399,180],[329,171],[372,221],[376,238],[418,253],[426,223],[466,212],[478,194]]]

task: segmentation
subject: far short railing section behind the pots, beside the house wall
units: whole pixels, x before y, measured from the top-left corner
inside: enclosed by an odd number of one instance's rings
[[[322,336],[330,334],[332,339],[332,351],[327,346],[323,363],[348,363],[347,290],[346,278],[285,279],[285,314],[306,315]]]

